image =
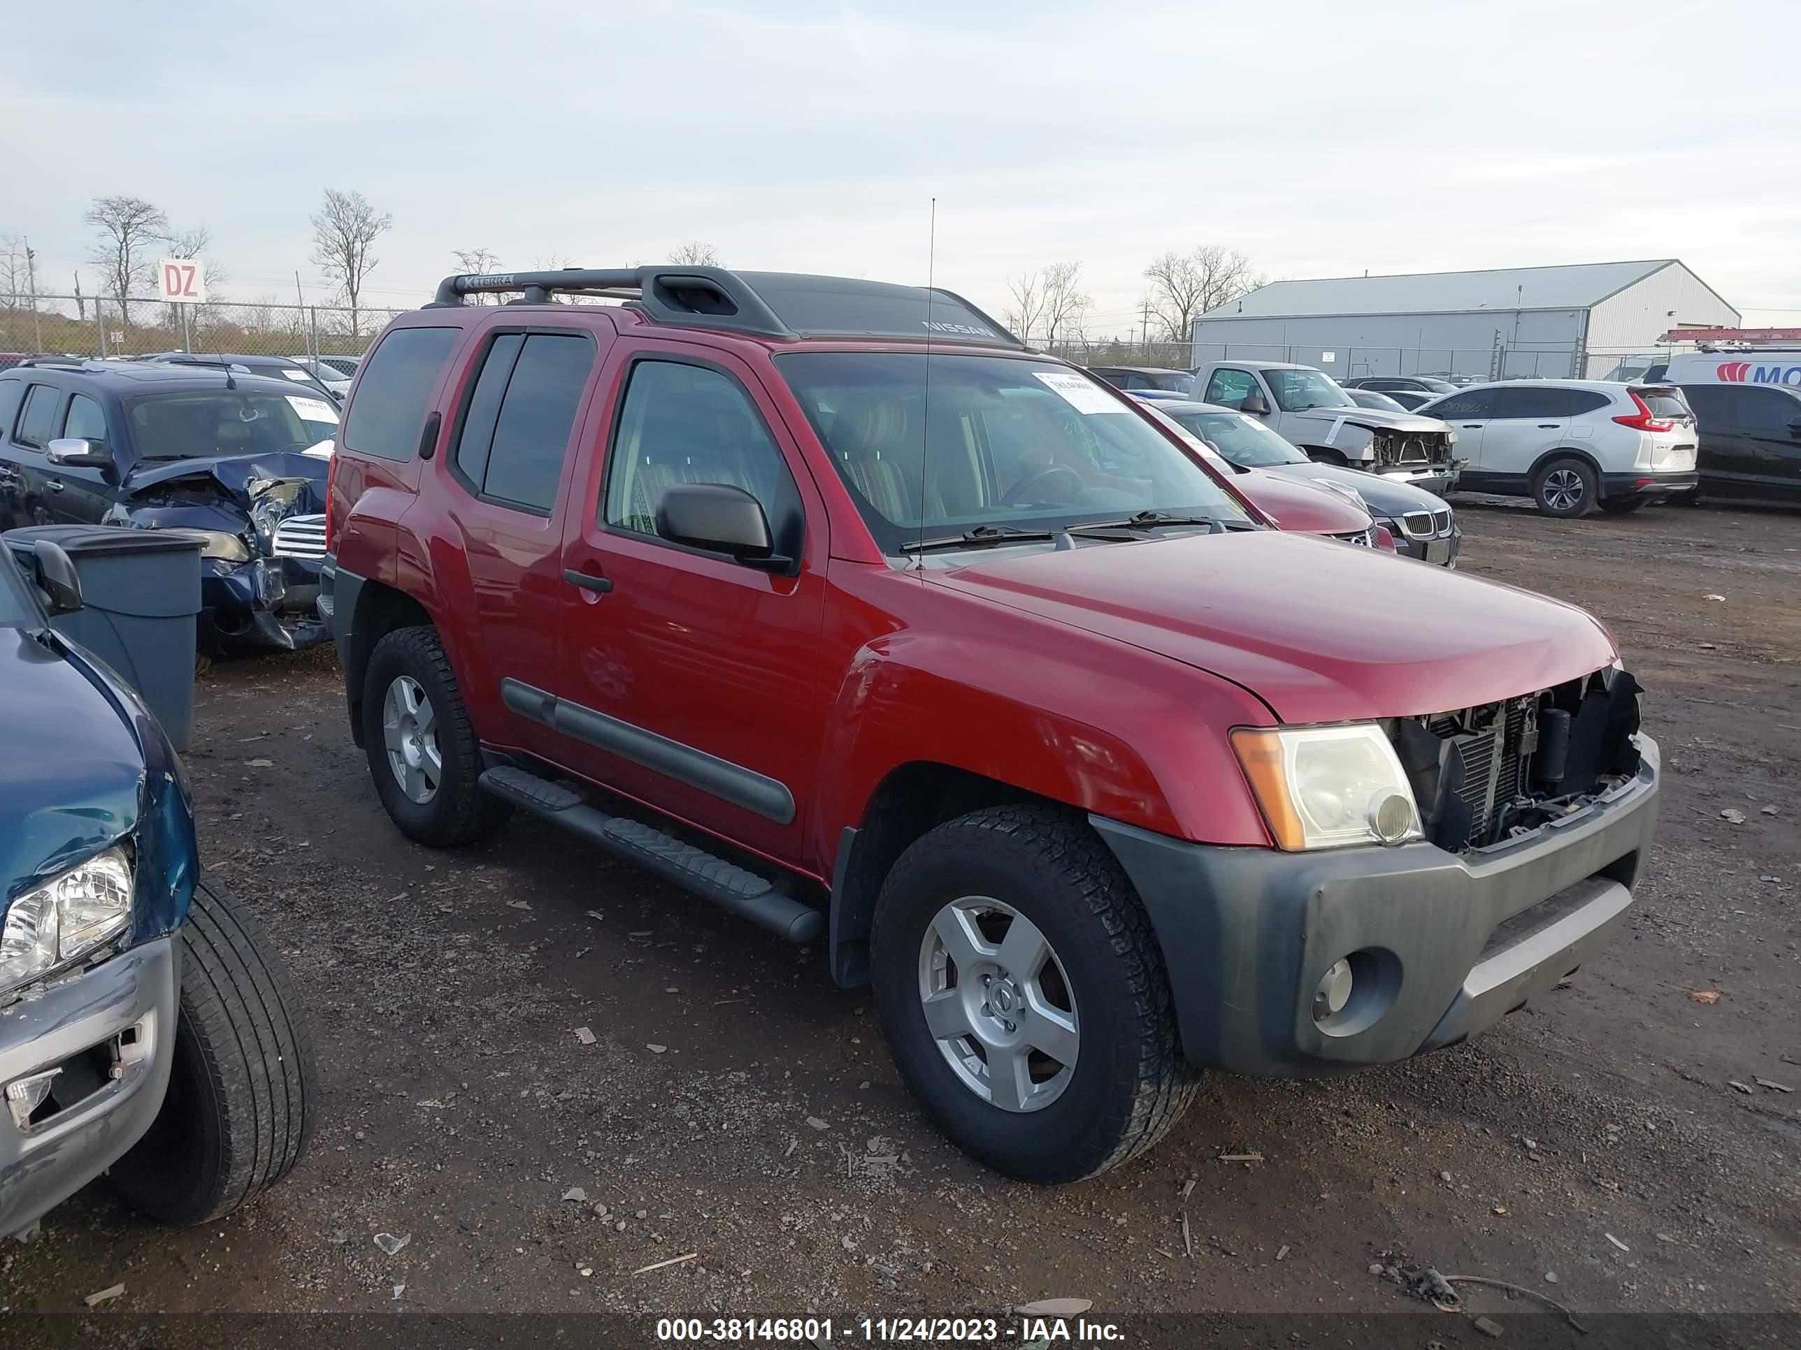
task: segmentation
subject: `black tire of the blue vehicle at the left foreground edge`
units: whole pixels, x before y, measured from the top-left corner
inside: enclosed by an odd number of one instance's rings
[[[313,1132],[319,1071],[294,986],[240,900],[202,878],[176,941],[169,1089],[110,1177],[139,1213],[191,1226],[288,1175]]]

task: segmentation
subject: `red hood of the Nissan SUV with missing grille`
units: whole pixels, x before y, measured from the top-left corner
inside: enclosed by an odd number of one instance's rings
[[[1281,531],[1046,549],[926,580],[1212,671],[1290,724],[1448,713],[1615,657],[1574,605]]]

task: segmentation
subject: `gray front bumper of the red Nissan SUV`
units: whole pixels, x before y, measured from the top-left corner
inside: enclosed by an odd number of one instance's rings
[[[1187,1057],[1263,1076],[1389,1064],[1493,1026],[1625,923],[1657,819],[1657,745],[1588,810],[1504,844],[1282,853],[1090,817],[1163,949]],[[1345,1015],[1315,1019],[1353,958]]]

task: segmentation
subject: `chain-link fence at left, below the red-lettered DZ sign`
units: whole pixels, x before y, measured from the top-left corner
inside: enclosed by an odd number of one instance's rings
[[[158,351],[234,356],[360,356],[400,310],[322,304],[0,295],[0,353],[148,356]]]

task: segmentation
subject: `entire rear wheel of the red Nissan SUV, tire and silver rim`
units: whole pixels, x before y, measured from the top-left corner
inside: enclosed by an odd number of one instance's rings
[[[472,844],[511,814],[481,790],[481,743],[436,628],[375,644],[362,684],[362,743],[376,796],[407,839]]]

